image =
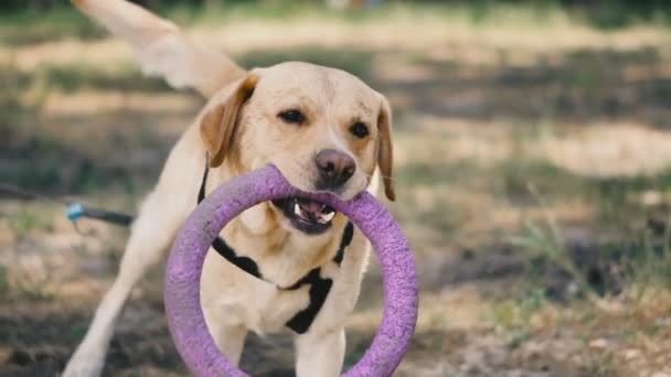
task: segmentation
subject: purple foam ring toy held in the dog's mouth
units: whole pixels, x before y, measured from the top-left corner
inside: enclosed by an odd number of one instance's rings
[[[362,359],[343,376],[391,376],[409,344],[417,322],[417,274],[407,240],[392,215],[368,192],[342,202],[330,194],[294,188],[273,165],[216,188],[182,226],[166,268],[164,302],[172,340],[195,376],[246,376],[219,351],[200,302],[203,261],[221,229],[243,211],[265,201],[301,196],[347,215],[370,239],[382,267],[382,324]]]

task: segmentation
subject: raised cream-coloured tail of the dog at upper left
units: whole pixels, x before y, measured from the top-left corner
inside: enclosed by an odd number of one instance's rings
[[[210,98],[245,71],[221,52],[191,42],[172,22],[126,0],[72,0],[84,13],[128,42],[142,73]]]

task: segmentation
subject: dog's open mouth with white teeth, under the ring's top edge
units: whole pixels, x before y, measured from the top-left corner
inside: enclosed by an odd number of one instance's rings
[[[301,197],[276,200],[273,201],[273,204],[281,211],[296,229],[309,235],[318,235],[328,230],[337,214],[331,206]]]

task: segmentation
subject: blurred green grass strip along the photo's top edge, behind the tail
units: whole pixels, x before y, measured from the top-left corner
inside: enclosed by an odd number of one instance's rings
[[[338,20],[353,24],[387,22],[388,20],[441,20],[451,24],[484,26],[569,26],[586,24],[597,29],[622,29],[631,25],[667,25],[671,20],[668,7],[636,7],[618,2],[603,7],[562,7],[555,1],[454,1],[413,3],[390,1],[371,10],[336,11],[321,2],[291,0],[257,2],[211,2],[194,7],[181,2],[162,7],[158,13],[183,25],[219,26],[222,23],[297,22],[303,19]],[[30,24],[31,28],[24,28]],[[106,35],[102,28],[88,22],[73,7],[57,6],[49,11],[8,11],[0,14],[0,43],[11,46],[36,44],[76,36],[97,40]]]

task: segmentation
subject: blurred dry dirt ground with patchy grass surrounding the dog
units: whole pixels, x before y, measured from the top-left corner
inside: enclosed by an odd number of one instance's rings
[[[407,9],[213,18],[189,33],[246,66],[337,66],[391,99],[388,207],[420,279],[395,376],[671,376],[669,29]],[[73,20],[64,32],[38,19],[0,28],[1,181],[134,213],[202,100],[142,78],[129,49]],[[57,375],[127,235],[94,222],[77,231],[60,203],[0,196],[1,376]],[[187,375],[161,274],[134,291],[106,376]],[[372,260],[348,366],[377,327],[381,281]],[[290,335],[251,335],[242,367],[291,376]]]

